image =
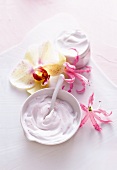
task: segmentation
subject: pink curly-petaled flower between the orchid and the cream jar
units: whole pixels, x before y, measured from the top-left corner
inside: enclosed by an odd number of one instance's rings
[[[75,63],[78,62],[78,56],[76,56]],[[70,84],[70,89],[68,92],[71,92],[73,89],[73,84],[76,79],[78,79],[82,84],[81,90],[76,90],[77,93],[83,93],[85,91],[86,85],[89,85],[89,80],[82,75],[82,73],[89,73],[91,71],[90,66],[85,66],[83,69],[77,69],[76,66],[69,64],[68,62],[64,63],[64,73],[68,77],[65,79],[67,83]]]

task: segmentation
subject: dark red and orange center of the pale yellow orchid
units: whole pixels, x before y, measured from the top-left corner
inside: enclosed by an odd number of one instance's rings
[[[50,75],[48,75],[48,72],[43,67],[39,67],[34,70],[33,77],[37,81],[43,80],[42,84],[44,84],[49,80]]]

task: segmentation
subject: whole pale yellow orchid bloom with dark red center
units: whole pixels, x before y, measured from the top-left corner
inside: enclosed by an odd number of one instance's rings
[[[30,94],[49,86],[50,76],[63,72],[66,58],[55,52],[50,42],[42,46],[33,45],[26,52],[24,59],[10,75],[13,86],[25,89]]]

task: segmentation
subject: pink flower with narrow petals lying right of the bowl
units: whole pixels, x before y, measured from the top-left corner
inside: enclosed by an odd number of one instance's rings
[[[81,124],[80,124],[80,127],[82,127],[86,121],[88,119],[91,120],[94,128],[97,130],[97,131],[101,131],[101,127],[99,126],[99,124],[97,123],[97,120],[99,122],[102,122],[102,123],[109,123],[109,122],[112,122],[111,120],[108,119],[108,116],[110,116],[112,114],[112,112],[110,112],[109,114],[105,111],[105,110],[102,110],[102,109],[97,109],[97,110],[94,110],[92,108],[92,105],[93,105],[93,101],[94,101],[94,93],[89,97],[89,101],[88,101],[88,107],[86,107],[85,105],[83,104],[80,104],[81,108],[83,111],[85,111],[86,115],[84,116],[84,118],[82,119],[81,121]],[[100,116],[104,116],[107,120],[103,120]]]

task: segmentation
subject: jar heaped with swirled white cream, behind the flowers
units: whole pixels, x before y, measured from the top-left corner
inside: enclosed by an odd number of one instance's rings
[[[56,38],[55,46],[60,53],[65,55],[70,64],[74,64],[74,59],[78,53],[77,68],[84,67],[89,61],[90,43],[87,36],[80,30],[63,31]]]

